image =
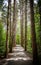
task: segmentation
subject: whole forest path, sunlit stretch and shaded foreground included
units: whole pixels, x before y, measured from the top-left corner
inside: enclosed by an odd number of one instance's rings
[[[5,59],[0,65],[32,65],[32,58],[24,51],[20,45],[13,48],[13,53],[9,53],[9,58]]]

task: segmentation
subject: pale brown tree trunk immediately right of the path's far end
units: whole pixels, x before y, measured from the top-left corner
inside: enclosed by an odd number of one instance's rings
[[[21,46],[24,44],[24,33],[23,33],[23,0],[20,0],[20,27],[21,27]]]

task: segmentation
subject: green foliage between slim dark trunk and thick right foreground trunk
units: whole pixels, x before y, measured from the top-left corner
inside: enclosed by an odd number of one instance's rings
[[[32,43],[31,43],[31,26],[28,25],[28,32],[27,32],[27,51],[32,53]]]

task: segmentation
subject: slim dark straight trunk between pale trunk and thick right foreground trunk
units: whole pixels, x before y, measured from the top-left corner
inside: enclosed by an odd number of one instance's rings
[[[27,50],[27,0],[25,0],[25,51]]]

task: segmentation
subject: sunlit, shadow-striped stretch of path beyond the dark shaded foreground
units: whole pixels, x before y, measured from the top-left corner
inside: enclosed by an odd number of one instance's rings
[[[16,47],[13,48],[13,53],[9,53],[9,59],[8,60],[32,60],[24,51],[24,48],[20,45],[16,45]]]

